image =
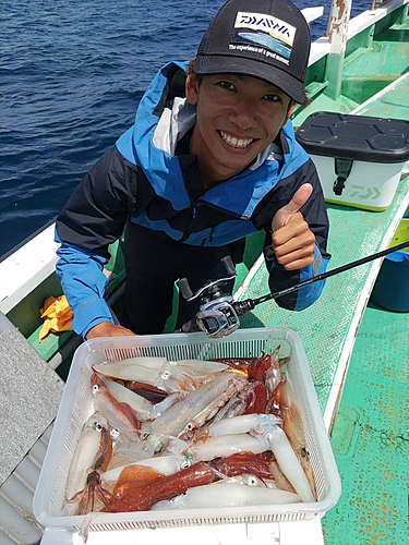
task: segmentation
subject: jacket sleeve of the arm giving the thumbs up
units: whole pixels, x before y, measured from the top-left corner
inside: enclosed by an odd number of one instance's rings
[[[308,202],[300,209],[304,220],[309,223],[311,231],[315,235],[314,263],[299,270],[286,270],[277,263],[272,247],[272,230],[266,229],[264,244],[264,256],[269,271],[268,284],[272,292],[280,291],[316,275],[325,272],[330,255],[326,251],[329,222],[326,213],[323,190],[318,180],[315,166],[311,159],[306,161],[297,172],[292,174],[293,183],[284,180],[278,189],[279,198],[275,211],[287,204],[292,195],[304,183],[311,183],[313,192]],[[282,191],[280,191],[282,190]],[[273,219],[274,216],[272,216]],[[301,288],[298,291],[282,295],[276,303],[282,308],[291,311],[302,311],[312,305],[321,295],[325,281],[320,281]]]

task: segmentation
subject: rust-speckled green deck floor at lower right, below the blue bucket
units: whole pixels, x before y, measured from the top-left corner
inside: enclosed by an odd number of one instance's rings
[[[342,494],[326,545],[408,543],[409,313],[369,304],[330,434]]]

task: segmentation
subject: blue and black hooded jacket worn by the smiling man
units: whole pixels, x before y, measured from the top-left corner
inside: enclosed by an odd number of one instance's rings
[[[101,322],[113,323],[104,300],[108,280],[103,268],[109,244],[127,221],[194,246],[221,246],[265,230],[273,291],[326,269],[328,219],[323,192],[291,122],[248,169],[205,191],[196,156],[176,153],[195,123],[195,107],[185,100],[185,63],[171,62],[159,71],[141,100],[134,125],[85,175],[57,219],[56,240],[61,242],[57,272],[74,315],[72,327],[84,337]],[[270,246],[272,219],[306,182],[313,193],[300,211],[315,234],[315,261],[287,271],[276,263]],[[316,301],[323,286],[316,282],[277,303],[300,311]]]

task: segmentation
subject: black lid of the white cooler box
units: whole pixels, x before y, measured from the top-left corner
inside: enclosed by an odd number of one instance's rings
[[[409,121],[318,111],[297,131],[309,154],[371,162],[409,159]]]

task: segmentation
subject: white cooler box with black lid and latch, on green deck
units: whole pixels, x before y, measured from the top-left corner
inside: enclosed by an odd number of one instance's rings
[[[409,159],[409,121],[316,112],[297,141],[316,166],[325,201],[381,211]]]

